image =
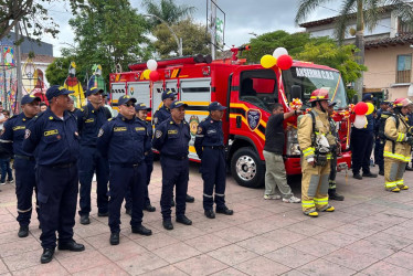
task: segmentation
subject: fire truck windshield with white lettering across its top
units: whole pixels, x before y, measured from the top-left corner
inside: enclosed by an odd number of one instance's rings
[[[283,72],[285,89],[289,93],[292,85],[301,86],[303,103],[308,103],[311,92],[317,88],[328,91],[331,102],[336,102],[336,108],[346,108],[347,94],[340,73],[329,70],[319,70],[310,67],[292,67]]]

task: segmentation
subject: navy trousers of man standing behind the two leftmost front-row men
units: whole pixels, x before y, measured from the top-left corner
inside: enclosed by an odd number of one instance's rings
[[[78,160],[78,180],[81,182],[80,215],[91,212],[91,190],[93,174],[96,170],[97,210],[99,213],[107,212],[108,197],[107,182],[109,180],[109,163],[102,158],[100,152],[93,146],[81,146]]]

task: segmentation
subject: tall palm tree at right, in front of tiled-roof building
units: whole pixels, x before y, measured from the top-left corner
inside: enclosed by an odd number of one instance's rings
[[[303,22],[307,15],[315,9],[321,7],[331,0],[300,0],[295,22],[298,24]],[[339,17],[336,25],[336,36],[341,44],[347,30],[349,19],[356,12],[356,46],[360,50],[356,52],[357,62],[364,64],[364,24],[369,30],[372,30],[383,12],[384,6],[392,6],[394,11],[404,22],[413,22],[412,4],[407,0],[342,0]],[[356,82],[356,91],[361,98],[363,87],[363,76]]]

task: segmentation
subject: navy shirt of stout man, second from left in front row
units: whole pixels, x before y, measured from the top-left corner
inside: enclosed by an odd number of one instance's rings
[[[119,114],[102,126],[97,149],[110,163],[136,164],[144,160],[148,139],[145,121],[125,118]]]

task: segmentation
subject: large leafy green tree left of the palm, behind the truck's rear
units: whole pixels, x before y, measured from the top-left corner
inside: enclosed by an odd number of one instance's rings
[[[106,77],[117,64],[127,70],[128,64],[150,56],[149,41],[145,36],[147,22],[128,0],[89,0],[88,3],[70,20],[77,45],[66,49],[65,55],[74,55],[76,64],[83,68],[100,64]]]

